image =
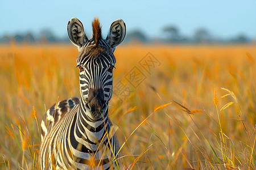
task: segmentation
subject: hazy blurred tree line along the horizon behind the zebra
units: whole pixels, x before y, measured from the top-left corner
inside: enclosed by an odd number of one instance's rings
[[[16,34],[14,36],[4,35],[0,37],[0,44],[55,44],[55,43],[69,43],[68,37],[60,38],[54,35],[50,29],[44,29],[40,32],[39,36],[35,36],[33,33],[28,32],[24,34]],[[205,28],[197,29],[192,36],[181,35],[179,29],[174,25],[168,25],[162,29],[160,37],[148,37],[140,29],[134,29],[127,32],[125,43],[142,43],[142,44],[249,44],[253,42],[253,39],[246,35],[237,35],[230,39],[221,39],[219,37],[212,36]]]

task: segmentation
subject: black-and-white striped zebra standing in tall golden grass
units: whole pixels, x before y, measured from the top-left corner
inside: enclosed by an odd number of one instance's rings
[[[113,95],[115,47],[126,35],[122,19],[110,25],[102,39],[98,18],[88,39],[79,19],[68,22],[68,36],[77,46],[80,97],[60,101],[46,112],[41,124],[41,169],[119,168],[119,144],[108,117]]]

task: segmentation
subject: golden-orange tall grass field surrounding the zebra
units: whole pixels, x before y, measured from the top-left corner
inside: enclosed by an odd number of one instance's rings
[[[39,169],[40,124],[79,96],[73,45],[0,46],[0,169]],[[256,45],[121,45],[120,169],[256,169]]]

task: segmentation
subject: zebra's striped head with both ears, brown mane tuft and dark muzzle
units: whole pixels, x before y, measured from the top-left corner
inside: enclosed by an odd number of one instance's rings
[[[125,38],[126,26],[123,20],[115,20],[106,39],[102,39],[101,26],[95,18],[92,30],[92,37],[88,39],[79,19],[68,22],[69,39],[79,50],[81,109],[91,121],[97,121],[108,116],[108,103],[113,95],[113,53]]]

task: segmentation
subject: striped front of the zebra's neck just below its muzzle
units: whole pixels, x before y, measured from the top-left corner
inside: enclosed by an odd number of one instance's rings
[[[104,113],[104,118],[100,121],[90,120],[85,112],[84,103],[82,99],[80,99],[75,132],[80,133],[85,141],[89,143],[104,142],[106,137],[105,133],[110,130],[108,108],[106,109],[106,113]]]

